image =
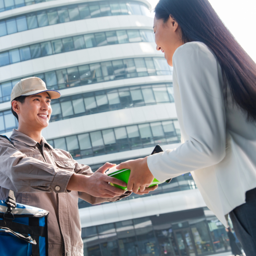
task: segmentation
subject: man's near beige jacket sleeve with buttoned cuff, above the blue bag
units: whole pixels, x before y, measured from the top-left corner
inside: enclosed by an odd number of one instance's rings
[[[19,193],[68,192],[66,186],[73,172],[28,157],[1,137],[0,163],[1,187]]]

